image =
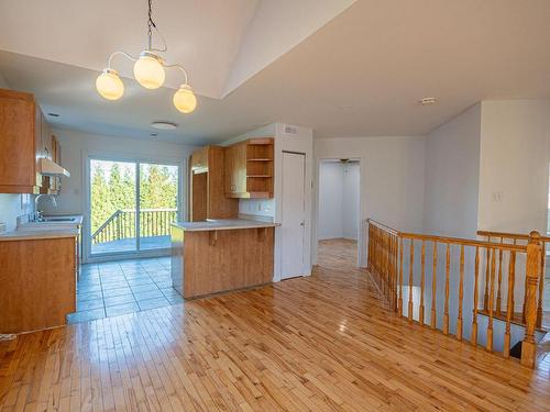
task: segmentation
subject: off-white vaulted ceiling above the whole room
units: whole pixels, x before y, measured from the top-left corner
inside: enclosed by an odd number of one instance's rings
[[[0,74],[59,127],[148,138],[168,120],[160,138],[194,144],[275,121],[425,134],[482,99],[550,98],[548,0],[164,0],[154,16],[199,94],[190,115],[172,107],[177,73],[155,91],[123,79],[116,102],[94,89],[111,52],[144,48],[145,1],[0,1]]]

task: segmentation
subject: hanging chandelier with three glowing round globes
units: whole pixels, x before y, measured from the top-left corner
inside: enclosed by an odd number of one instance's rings
[[[162,48],[153,47],[153,29],[163,41]],[[160,53],[166,53],[168,47],[166,41],[156,27],[153,21],[152,0],[148,0],[148,20],[147,20],[147,49],[140,53],[139,57],[133,57],[127,52],[117,51],[109,56],[108,67],[96,79],[96,89],[107,100],[118,100],[124,94],[124,83],[120,79],[119,73],[111,68],[111,62],[114,56],[123,55],[134,63],[134,77],[138,82],[146,89],[158,89],[164,85],[166,77],[165,68],[177,68],[184,74],[184,83],[174,93],[173,102],[182,113],[190,113],[197,107],[197,97],[188,83],[187,71],[178,64],[167,65]]]

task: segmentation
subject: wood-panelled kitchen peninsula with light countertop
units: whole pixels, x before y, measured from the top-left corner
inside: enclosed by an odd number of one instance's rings
[[[275,226],[244,219],[174,223],[174,288],[190,299],[271,282]]]

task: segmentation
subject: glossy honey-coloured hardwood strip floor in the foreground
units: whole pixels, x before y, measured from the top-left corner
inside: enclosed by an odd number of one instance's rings
[[[0,410],[550,410],[548,361],[409,325],[354,258],[322,242],[310,278],[0,343]]]

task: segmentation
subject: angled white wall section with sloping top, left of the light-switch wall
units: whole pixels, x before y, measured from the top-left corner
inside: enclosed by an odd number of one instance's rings
[[[475,104],[427,136],[426,233],[476,237],[480,127],[481,104]]]

